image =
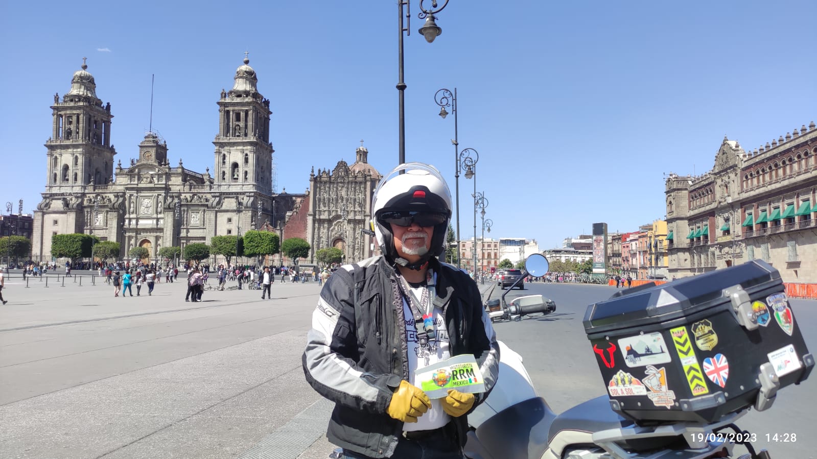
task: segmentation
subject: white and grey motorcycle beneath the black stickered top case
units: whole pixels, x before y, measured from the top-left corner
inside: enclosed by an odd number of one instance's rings
[[[525,261],[534,276],[547,273],[547,259],[534,254]],[[520,320],[530,312],[547,314],[547,301],[529,296],[505,305],[496,317]],[[555,305],[553,305],[555,309]],[[734,421],[748,409],[730,413],[712,423],[677,421],[640,426],[610,409],[604,395],[580,403],[560,414],[553,412],[534,389],[519,354],[500,341],[499,378],[483,403],[468,415],[470,426],[464,452],[470,459],[711,459],[733,457],[736,443],[748,454],[736,459],[770,459],[769,452],[755,452],[745,430]],[[734,433],[728,433],[727,429]]]

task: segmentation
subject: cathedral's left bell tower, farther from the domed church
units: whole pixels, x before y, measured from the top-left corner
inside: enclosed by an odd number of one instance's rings
[[[110,145],[110,103],[96,97],[96,82],[83,67],[71,78],[60,102],[54,95],[51,138],[46,142],[47,193],[81,193],[86,185],[106,185],[114,175]]]

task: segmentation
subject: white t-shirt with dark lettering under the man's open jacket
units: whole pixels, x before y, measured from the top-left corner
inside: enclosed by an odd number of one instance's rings
[[[411,287],[414,297],[418,300],[422,298],[422,291],[426,287]],[[429,294],[430,301],[433,300],[433,293]],[[406,325],[406,341],[408,341],[408,382],[415,384],[414,370],[427,367],[433,363],[440,362],[451,357],[449,333],[445,329],[445,319],[443,317],[443,310],[434,308],[434,325],[435,325],[435,340],[429,340],[430,345],[435,346],[435,351],[429,352],[429,349],[422,347],[417,342],[417,328],[414,326],[414,314],[408,303],[403,300],[403,315]],[[419,386],[418,386],[419,387]],[[440,399],[431,399],[431,408],[425,414],[417,418],[417,422],[406,422],[403,425],[403,430],[432,430],[439,429],[451,421],[451,417],[447,412],[443,411]]]

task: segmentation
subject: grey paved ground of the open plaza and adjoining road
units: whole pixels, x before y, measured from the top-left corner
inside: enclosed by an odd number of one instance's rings
[[[208,291],[202,303],[184,301],[183,283],[118,298],[87,280],[59,285],[10,279],[3,289],[0,457],[322,459],[333,448],[324,438],[330,406],[301,370],[314,283],[275,283],[271,301],[258,291]],[[604,394],[582,319],[615,288],[526,288],[509,296],[542,292],[556,314],[496,329],[525,358],[540,394],[557,412]],[[792,307],[813,331],[817,301]],[[813,377],[782,391],[774,408],[741,426],[798,435],[771,445],[774,457],[814,457],[815,386]]]

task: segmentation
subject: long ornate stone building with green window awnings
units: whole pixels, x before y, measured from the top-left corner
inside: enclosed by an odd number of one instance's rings
[[[703,176],[667,179],[669,274],[753,259],[786,282],[817,282],[817,129],[811,122],[746,151],[724,139]]]

